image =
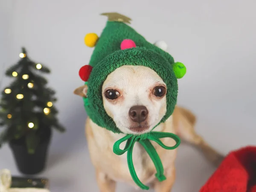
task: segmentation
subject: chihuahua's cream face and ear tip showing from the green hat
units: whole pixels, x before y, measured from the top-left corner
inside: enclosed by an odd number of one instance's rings
[[[149,67],[125,65],[110,73],[102,85],[106,113],[125,134],[151,131],[166,113],[166,84]],[[87,85],[74,91],[86,97]]]

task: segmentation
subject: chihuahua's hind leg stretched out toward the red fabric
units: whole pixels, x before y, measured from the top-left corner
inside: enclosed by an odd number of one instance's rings
[[[214,165],[218,166],[224,159],[223,155],[215,151],[195,132],[195,116],[190,111],[184,108],[175,108],[174,125],[181,139],[201,149],[204,156]]]

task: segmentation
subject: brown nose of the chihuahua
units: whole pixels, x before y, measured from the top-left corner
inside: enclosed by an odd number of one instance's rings
[[[148,117],[148,109],[143,105],[136,105],[129,110],[129,116],[132,121],[141,123]]]

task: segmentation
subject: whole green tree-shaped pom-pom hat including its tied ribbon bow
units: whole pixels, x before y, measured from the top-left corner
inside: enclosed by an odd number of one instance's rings
[[[88,86],[87,97],[84,97],[84,107],[90,119],[102,128],[106,128],[114,133],[121,133],[116,127],[115,122],[109,120],[102,99],[102,85],[107,76],[123,65],[141,65],[154,70],[166,83],[166,103],[167,110],[163,119],[157,124],[164,122],[172,115],[177,102],[177,79],[182,78],[186,73],[186,67],[174,61],[172,56],[160,49],[154,44],[149,43],[126,23],[130,23],[130,18],[118,13],[105,13],[108,16],[108,22],[98,37],[95,33],[89,33],[85,36],[84,42],[88,47],[95,47],[88,65],[79,70],[80,78]],[[156,126],[157,126],[156,125]],[[160,138],[171,137],[176,141],[176,145],[167,147],[163,145]],[[125,149],[120,149],[120,143],[127,140]],[[113,152],[121,155],[128,151],[128,166],[134,182],[142,189],[148,189],[138,179],[133,167],[131,154],[135,142],[140,142],[153,160],[157,174],[156,177],[162,181],[163,166],[161,160],[149,140],[154,140],[163,148],[174,149],[180,144],[180,139],[171,133],[162,133],[151,131],[150,134],[127,135],[117,141],[113,146]]]

